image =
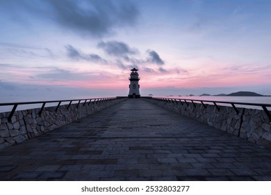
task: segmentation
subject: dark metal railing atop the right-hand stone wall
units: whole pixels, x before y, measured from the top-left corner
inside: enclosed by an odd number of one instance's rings
[[[224,102],[224,101],[215,101],[215,100],[192,100],[192,99],[182,99],[182,98],[150,98],[152,100],[158,100],[163,102],[172,102],[172,103],[180,103],[181,105],[187,104],[188,102],[192,102],[193,106],[196,107],[195,102],[200,102],[204,108],[206,108],[206,104],[204,102],[213,103],[218,111],[220,111],[220,107],[217,104],[230,104],[231,107],[236,111],[236,114],[239,114],[238,109],[236,108],[236,104],[238,105],[246,105],[246,106],[255,106],[255,107],[262,107],[265,114],[268,116],[269,120],[271,121],[271,114],[268,111],[267,107],[271,107],[271,104],[258,104],[258,103],[245,103],[245,102]]]

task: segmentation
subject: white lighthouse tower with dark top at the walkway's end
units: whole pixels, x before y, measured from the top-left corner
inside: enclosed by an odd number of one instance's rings
[[[130,85],[129,85],[129,95],[128,98],[140,98],[139,93],[139,84],[138,81],[140,80],[140,77],[138,77],[138,70],[136,68],[133,68],[131,70],[131,74],[129,77]]]

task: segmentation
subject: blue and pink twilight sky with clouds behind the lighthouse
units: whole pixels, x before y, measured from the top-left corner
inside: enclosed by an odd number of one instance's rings
[[[271,1],[0,0],[0,97],[271,95]]]

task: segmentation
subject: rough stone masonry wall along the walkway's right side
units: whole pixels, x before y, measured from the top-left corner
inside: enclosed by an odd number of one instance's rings
[[[247,139],[262,146],[271,146],[271,121],[265,111],[259,109],[237,108],[238,114],[233,107],[192,102],[164,102],[152,98],[144,98],[148,102],[157,104],[182,116],[187,116],[202,123],[207,123],[224,132],[229,132],[242,139]]]

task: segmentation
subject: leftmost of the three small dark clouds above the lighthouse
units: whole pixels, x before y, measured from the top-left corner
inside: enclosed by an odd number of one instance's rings
[[[95,63],[102,63],[102,64],[108,63],[108,61],[101,58],[101,56],[97,54],[85,54],[83,52],[79,52],[79,50],[73,47],[72,45],[67,45],[66,49],[67,49],[67,56],[70,59],[92,61]]]

